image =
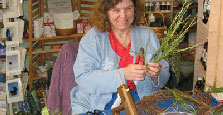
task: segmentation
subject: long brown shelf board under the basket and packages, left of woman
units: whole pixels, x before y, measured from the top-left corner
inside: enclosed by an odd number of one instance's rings
[[[65,38],[83,37],[83,36],[84,36],[84,33],[72,34],[69,36],[40,37],[40,38],[33,38],[32,41],[55,40],[55,39],[65,39]],[[24,42],[29,42],[29,39],[24,39]]]

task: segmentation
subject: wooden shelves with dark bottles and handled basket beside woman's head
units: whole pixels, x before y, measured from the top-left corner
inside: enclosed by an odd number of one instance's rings
[[[170,7],[168,7],[169,5],[167,5],[167,3],[169,3]],[[173,18],[173,0],[144,0],[144,6],[146,18],[145,24],[148,24],[148,26],[151,26],[151,28],[154,29],[158,38],[165,37],[167,26],[170,25]],[[153,16],[155,17],[153,26],[150,25],[151,23],[149,17],[151,16],[151,14],[153,14]],[[160,22],[160,19],[162,20],[162,22]]]

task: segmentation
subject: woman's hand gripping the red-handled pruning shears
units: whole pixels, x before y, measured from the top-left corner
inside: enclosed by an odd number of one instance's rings
[[[129,64],[124,68],[126,80],[142,81],[145,80],[148,68],[141,64]]]

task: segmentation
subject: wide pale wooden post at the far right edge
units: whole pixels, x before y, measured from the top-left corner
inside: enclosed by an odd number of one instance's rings
[[[211,13],[208,19],[208,60],[206,83],[209,86],[223,88],[223,1],[211,1]]]

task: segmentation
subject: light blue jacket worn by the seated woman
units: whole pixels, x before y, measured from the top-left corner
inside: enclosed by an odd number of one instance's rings
[[[78,55],[73,70],[78,86],[71,91],[72,114],[86,113],[95,109],[103,110],[111,100],[112,93],[117,92],[120,81],[116,72],[121,73],[122,81],[126,83],[123,68],[118,69],[120,57],[113,51],[109,41],[109,32],[100,33],[95,28],[90,29],[81,39]],[[146,51],[146,63],[160,44],[153,30],[144,26],[132,29],[131,50],[139,52],[143,47]],[[134,56],[136,55],[130,52]],[[169,79],[169,64],[165,60],[159,75],[159,85],[153,83],[148,76],[144,81],[135,81],[140,99],[159,90]]]

